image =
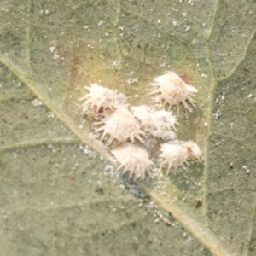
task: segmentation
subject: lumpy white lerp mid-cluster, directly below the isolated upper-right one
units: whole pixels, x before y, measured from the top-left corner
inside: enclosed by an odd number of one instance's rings
[[[164,139],[166,134],[171,134],[169,132],[171,128],[176,130],[174,125],[177,123],[177,119],[172,112],[155,111],[145,105],[131,107],[131,111],[140,120],[143,130],[148,131],[154,137]]]

